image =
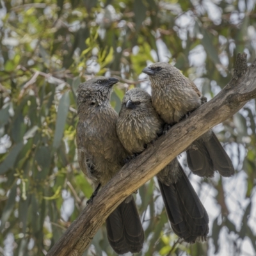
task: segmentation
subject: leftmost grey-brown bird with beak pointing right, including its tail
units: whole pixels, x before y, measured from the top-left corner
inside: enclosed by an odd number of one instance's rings
[[[124,165],[127,152],[116,134],[118,114],[110,105],[114,77],[95,77],[79,85],[77,90],[76,129],[78,161],[92,182],[93,202],[100,186],[104,186]],[[140,252],[144,232],[134,198],[130,195],[106,220],[108,240],[116,253]]]

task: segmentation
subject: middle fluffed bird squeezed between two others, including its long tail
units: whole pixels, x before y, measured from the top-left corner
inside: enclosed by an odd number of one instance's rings
[[[116,131],[129,154],[140,154],[162,129],[150,95],[140,88],[126,92]],[[188,243],[205,241],[209,218],[179,161],[175,158],[161,170],[157,180],[173,232]]]

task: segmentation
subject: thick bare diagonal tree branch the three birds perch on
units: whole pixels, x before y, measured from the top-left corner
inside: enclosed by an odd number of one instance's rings
[[[214,99],[196,109],[161,136],[140,156],[120,170],[68,227],[48,256],[81,255],[109,214],[131,193],[161,171],[194,140],[239,111],[256,90],[256,61],[246,65],[246,54],[239,54],[230,83]],[[244,96],[243,96],[244,95]]]

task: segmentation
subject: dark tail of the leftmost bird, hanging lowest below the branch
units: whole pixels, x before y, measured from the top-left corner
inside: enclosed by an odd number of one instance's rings
[[[140,252],[144,243],[144,231],[136,204],[122,202],[106,220],[108,241],[118,254]]]

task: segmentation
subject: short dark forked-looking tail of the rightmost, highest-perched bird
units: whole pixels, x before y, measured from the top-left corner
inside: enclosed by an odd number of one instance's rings
[[[196,140],[193,144],[198,149],[187,151],[188,166],[193,173],[201,177],[213,177],[214,171],[223,177],[234,175],[234,166],[214,132],[208,140]]]

